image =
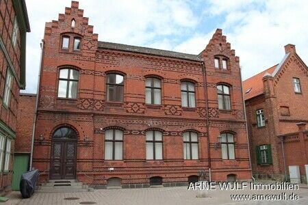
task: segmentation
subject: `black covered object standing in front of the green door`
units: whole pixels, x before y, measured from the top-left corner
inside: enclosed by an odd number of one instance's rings
[[[38,180],[38,169],[25,172],[21,176],[21,195],[23,198],[29,198],[34,194],[36,189],[36,181]]]

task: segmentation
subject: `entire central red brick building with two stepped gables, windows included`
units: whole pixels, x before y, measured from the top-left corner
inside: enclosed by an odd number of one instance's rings
[[[41,180],[173,186],[251,178],[239,57],[101,42],[72,1],[46,23],[33,166]]]

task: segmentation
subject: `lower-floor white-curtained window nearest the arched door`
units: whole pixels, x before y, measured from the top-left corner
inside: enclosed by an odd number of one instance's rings
[[[105,131],[105,160],[123,160],[123,131]]]

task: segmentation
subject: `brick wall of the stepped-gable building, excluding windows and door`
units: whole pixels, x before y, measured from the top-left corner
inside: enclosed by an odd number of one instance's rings
[[[46,23],[33,157],[41,181],[50,177],[52,136],[63,125],[77,131],[77,180],[88,184],[105,186],[116,177],[123,187],[134,187],[152,176],[163,184],[186,183],[209,168],[211,180],[251,178],[239,57],[220,29],[200,55],[99,42],[92,31],[76,1]],[[61,49],[63,36],[70,38],[69,49]],[[73,51],[74,37],[81,38],[81,51]],[[228,59],[228,69],[214,68],[214,56]],[[57,98],[60,68],[79,70],[76,99]],[[110,72],[124,75],[123,102],[106,100]],[[151,76],[161,79],[161,105],[145,104],[144,81]],[[181,81],[194,83],[195,108],[181,107]],[[218,109],[218,84],[230,87],[231,110]],[[121,161],[104,160],[107,128],[123,130]],[[151,129],[163,133],[162,160],[146,160],[145,132]],[[198,160],[183,159],[185,131],[198,135]],[[234,135],[233,160],[222,160],[218,136],[224,132]]]

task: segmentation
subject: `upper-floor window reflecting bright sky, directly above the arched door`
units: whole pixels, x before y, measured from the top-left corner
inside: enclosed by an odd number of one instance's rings
[[[60,69],[57,96],[59,98],[77,98],[78,80],[78,70],[71,68]]]

